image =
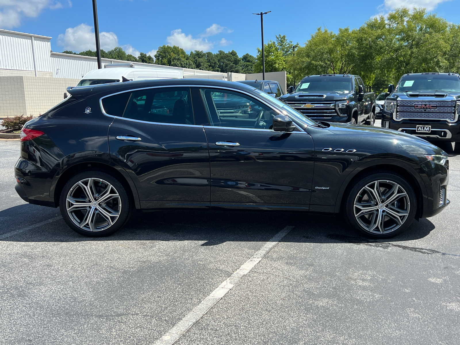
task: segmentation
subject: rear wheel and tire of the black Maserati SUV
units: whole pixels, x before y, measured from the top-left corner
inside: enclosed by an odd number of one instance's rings
[[[131,207],[120,181],[98,170],[72,176],[59,198],[59,208],[67,225],[87,237],[112,235],[126,223]]]

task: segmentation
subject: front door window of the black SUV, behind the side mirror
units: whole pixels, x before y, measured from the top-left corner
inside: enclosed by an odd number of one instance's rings
[[[267,105],[240,92],[201,89],[209,123],[216,127],[271,129],[278,115]]]

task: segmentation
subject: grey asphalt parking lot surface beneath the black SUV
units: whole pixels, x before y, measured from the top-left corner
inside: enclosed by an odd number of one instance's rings
[[[374,241],[341,218],[215,211],[86,238],[17,196],[18,155],[0,140],[0,344],[460,344],[460,156],[447,209]]]

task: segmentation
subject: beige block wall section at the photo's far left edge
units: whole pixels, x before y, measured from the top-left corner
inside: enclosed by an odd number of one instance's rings
[[[0,76],[0,117],[27,115],[24,77]]]

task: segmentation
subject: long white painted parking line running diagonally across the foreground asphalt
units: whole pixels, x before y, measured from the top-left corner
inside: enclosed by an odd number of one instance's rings
[[[224,280],[217,289],[203,299],[199,305],[193,308],[190,313],[184,316],[173,328],[167,331],[166,334],[158,339],[154,345],[174,344],[190,327],[192,327],[217,302],[219,302],[219,300],[235,286],[242,276],[252,270],[252,268],[257,265],[268,252],[270,252],[271,248],[275,247],[276,244],[293,228],[293,226],[286,226],[283,230],[273,236],[270,241],[265,243],[265,245],[252,256],[251,259],[247,260],[238,270],[235,271],[235,273]]]

